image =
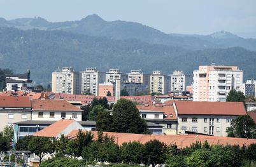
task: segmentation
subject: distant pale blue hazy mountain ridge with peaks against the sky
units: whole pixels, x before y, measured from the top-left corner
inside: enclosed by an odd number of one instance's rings
[[[107,22],[97,15],[89,15],[78,21],[48,22],[44,18],[0,19],[0,26],[17,27],[22,30],[65,30],[89,36],[111,37],[113,39],[139,39],[150,44],[178,46],[186,50],[209,48],[242,47],[256,51],[256,39],[245,39],[230,32],[215,32],[208,36],[165,34],[141,23],[113,21]]]

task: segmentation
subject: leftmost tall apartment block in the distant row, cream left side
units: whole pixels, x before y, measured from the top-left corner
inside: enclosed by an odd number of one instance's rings
[[[81,74],[72,67],[52,72],[53,93],[81,94]]]

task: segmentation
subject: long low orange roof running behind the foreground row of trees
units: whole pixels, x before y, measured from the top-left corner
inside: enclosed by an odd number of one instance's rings
[[[84,131],[85,132],[85,131]],[[76,138],[78,130],[73,130],[67,136],[69,138]],[[92,131],[94,134],[94,140],[97,138],[97,131]],[[142,144],[150,140],[159,140],[167,145],[176,144],[178,148],[189,147],[192,143],[196,141],[204,143],[208,141],[210,145],[240,145],[243,144],[256,144],[256,139],[246,139],[246,138],[230,138],[230,137],[215,137],[215,136],[205,136],[205,135],[143,135],[143,134],[133,134],[133,133],[114,133],[114,132],[104,132],[103,135],[108,134],[110,137],[114,137],[115,142],[118,145],[122,145],[124,142],[137,141]]]

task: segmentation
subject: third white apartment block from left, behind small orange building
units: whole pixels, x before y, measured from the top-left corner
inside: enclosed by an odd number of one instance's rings
[[[128,75],[120,72],[119,69],[110,69],[106,72],[106,83],[115,83],[117,79],[125,83],[128,81]]]

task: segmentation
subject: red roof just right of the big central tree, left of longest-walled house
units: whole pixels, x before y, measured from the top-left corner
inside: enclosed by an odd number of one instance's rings
[[[152,105],[145,106],[145,105],[136,105],[137,109],[139,110],[153,110],[153,111],[161,111],[164,112],[166,120],[176,120],[176,114],[174,112],[173,106],[163,106],[163,107],[155,107]]]

